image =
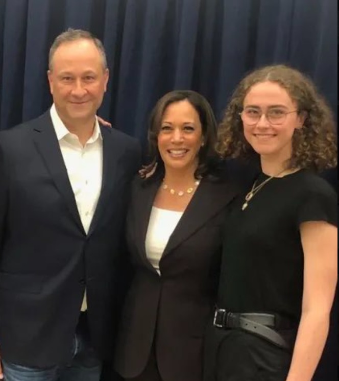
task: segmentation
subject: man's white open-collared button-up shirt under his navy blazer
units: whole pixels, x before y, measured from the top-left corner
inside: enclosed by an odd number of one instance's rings
[[[103,173],[103,139],[98,120],[95,120],[92,136],[85,146],[77,135],[68,131],[61,121],[55,105],[51,107],[51,118],[68,179],[77,203],[79,216],[86,233],[98,204]],[[86,292],[81,311],[87,309]]]

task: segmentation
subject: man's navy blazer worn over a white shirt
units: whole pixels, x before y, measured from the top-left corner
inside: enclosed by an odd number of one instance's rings
[[[85,288],[92,343],[102,358],[111,354],[139,146],[101,131],[102,189],[87,235],[50,113],[0,133],[0,354],[7,361],[68,361]]]

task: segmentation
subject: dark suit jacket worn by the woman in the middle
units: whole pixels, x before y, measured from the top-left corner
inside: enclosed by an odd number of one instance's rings
[[[161,277],[146,257],[145,238],[159,187],[136,179],[127,217],[135,268],[119,326],[115,369],[134,377],[152,345],[163,379],[202,379],[203,336],[219,274],[224,211],[236,195],[229,183],[202,180],[160,260]]]

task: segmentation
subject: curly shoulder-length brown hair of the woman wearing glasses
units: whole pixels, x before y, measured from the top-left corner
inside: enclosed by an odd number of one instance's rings
[[[258,159],[258,154],[245,139],[239,113],[246,94],[259,82],[279,84],[296,103],[305,117],[303,127],[296,129],[292,141],[292,157],[287,168],[312,168],[321,171],[337,165],[335,122],[332,111],[313,82],[298,70],[286,65],[271,65],[254,70],[235,89],[218,131],[216,149],[223,157]]]

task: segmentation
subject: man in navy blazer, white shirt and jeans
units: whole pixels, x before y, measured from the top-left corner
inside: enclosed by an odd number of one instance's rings
[[[0,133],[2,370],[6,381],[96,381],[127,278],[123,229],[139,145],[99,126],[108,69],[90,33],[56,38],[48,79],[52,108]]]

